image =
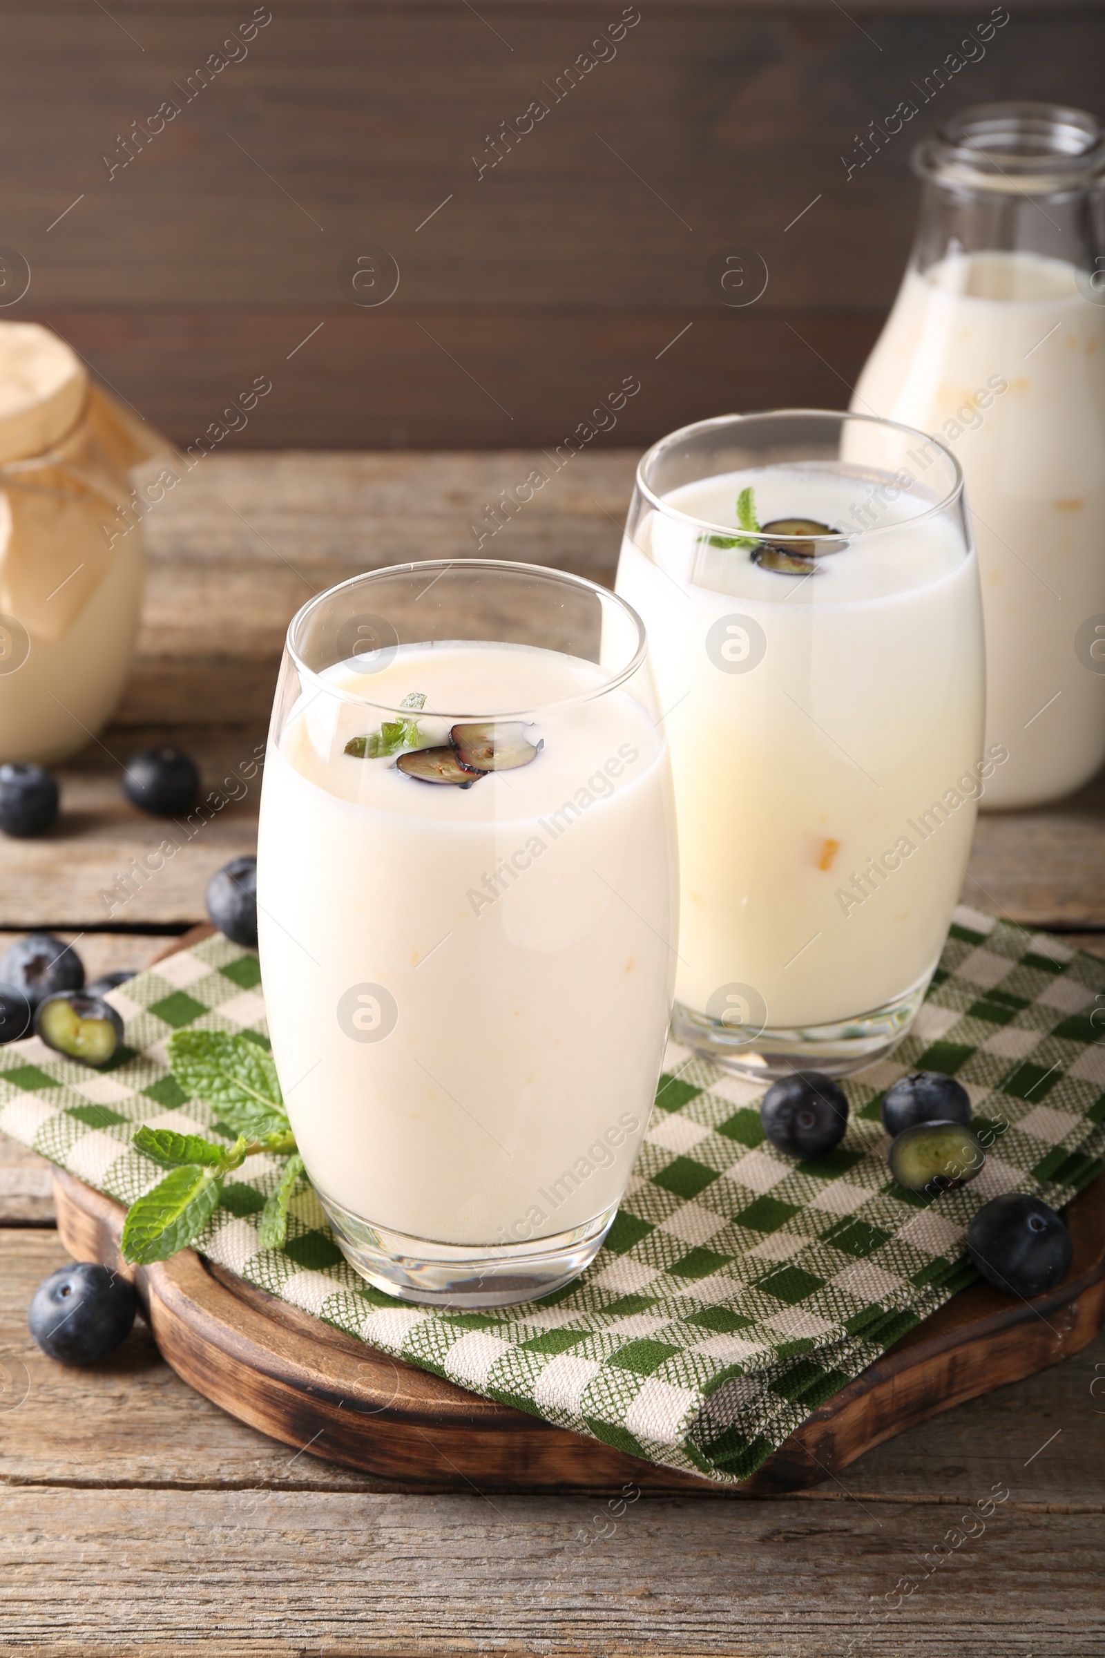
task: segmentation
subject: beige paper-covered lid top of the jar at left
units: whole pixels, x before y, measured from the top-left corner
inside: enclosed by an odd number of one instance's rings
[[[81,416],[88,373],[36,322],[0,322],[0,464],[45,454]]]

